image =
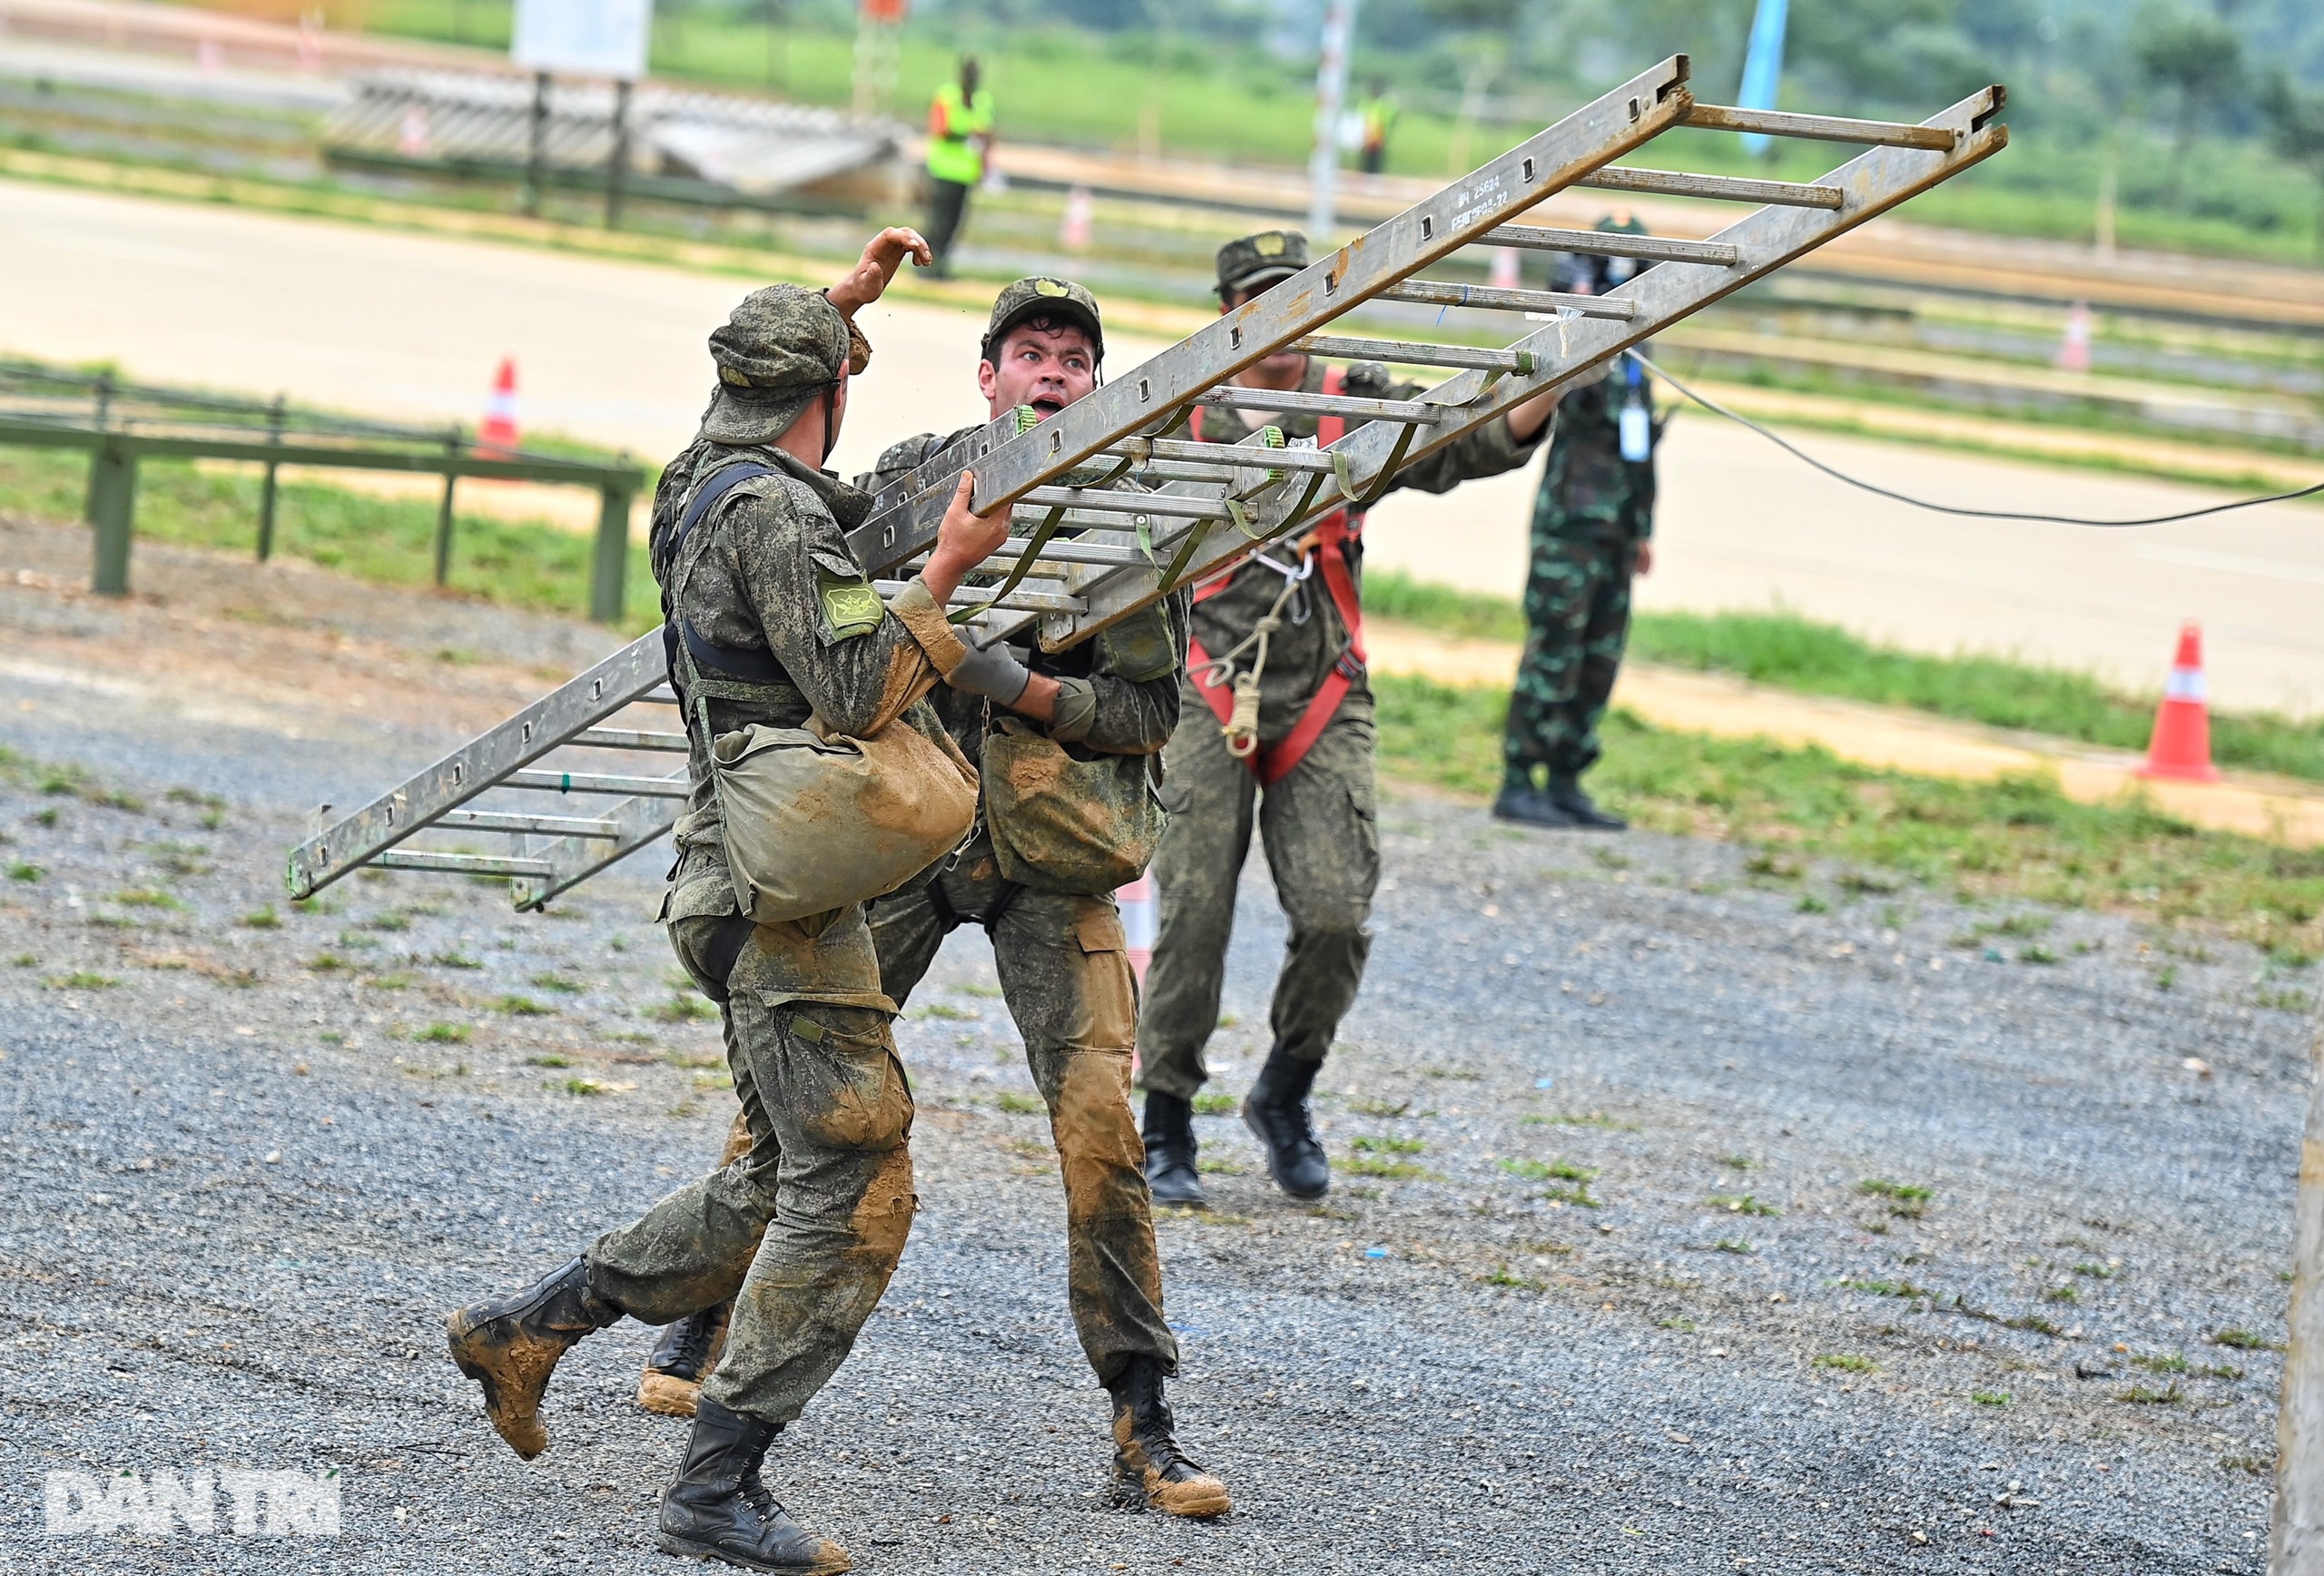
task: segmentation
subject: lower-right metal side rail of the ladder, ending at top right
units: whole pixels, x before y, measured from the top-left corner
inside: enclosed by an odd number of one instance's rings
[[[1624,349],[1650,339],[1671,323],[1708,307],[1710,302],[1762,279],[1824,242],[1855,230],[1885,214],[1908,198],[1992,158],[2008,144],[2008,128],[1992,116],[2001,109],[2001,88],[1982,88],[1959,105],[1927,121],[1929,128],[1948,132],[1948,151],[1903,149],[1875,144],[1871,151],[1834,170],[1822,184],[1841,186],[1848,202],[1841,209],[1810,207],[1764,207],[1717,235],[1717,242],[1736,249],[1738,263],[1731,267],[1692,267],[1664,263],[1631,279],[1622,298],[1636,302],[1631,321],[1618,318],[1571,318],[1543,325],[1511,349],[1532,351],[1538,370],[1532,377],[1490,372],[1462,372],[1422,395],[1457,411],[1448,421],[1415,428],[1399,465],[1427,458],[1432,451],[1455,442],[1464,432],[1499,418],[1527,397],[1578,381],[1592,367],[1620,356]],[[1957,132],[1957,135],[1954,135]],[[1332,453],[1348,463],[1348,472],[1360,490],[1380,479],[1383,465],[1397,456],[1406,428],[1394,421],[1371,421],[1348,432]],[[1262,525],[1262,535],[1274,539],[1297,530],[1304,518],[1292,518],[1290,509],[1304,493],[1304,483],[1285,481],[1255,500],[1250,514]],[[1308,516],[1336,507],[1329,488],[1308,507]],[[1213,532],[1185,569],[1185,581],[1215,574],[1241,558],[1253,544],[1234,532]],[[1160,576],[1153,569],[1095,572],[1083,586],[1090,611],[1081,616],[1050,616],[1041,623],[1041,646],[1060,651],[1078,644],[1111,623],[1139,611],[1162,595]],[[988,628],[995,628],[988,623]],[[997,632],[1016,632],[1013,625],[997,625]]]

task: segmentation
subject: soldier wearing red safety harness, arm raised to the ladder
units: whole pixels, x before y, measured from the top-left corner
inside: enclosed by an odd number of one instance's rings
[[[1267,286],[1308,263],[1306,237],[1267,230],[1229,242],[1218,253],[1220,309],[1234,309]],[[1327,370],[1311,356],[1283,351],[1236,377],[1253,388],[1325,393]],[[1348,367],[1341,393],[1376,400],[1411,400],[1418,384],[1397,384],[1387,367]],[[1504,421],[1476,428],[1429,458],[1397,474],[1394,486],[1446,493],[1473,477],[1494,477],[1525,465],[1541,442],[1555,395],[1529,400]],[[1260,425],[1285,437],[1313,439],[1318,416],[1274,411],[1202,411],[1195,437],[1239,442]],[[1362,574],[1362,544],[1343,549],[1350,581]],[[1306,574],[1287,588],[1287,579]],[[1308,1125],[1306,1097],[1315,1069],[1332,1048],[1341,1016],[1355,1002],[1371,951],[1371,893],[1380,879],[1373,828],[1373,714],[1371,688],[1355,660],[1350,630],[1327,593],[1327,574],[1311,544],[1281,544],[1253,556],[1218,593],[1195,604],[1195,642],[1211,658],[1234,658],[1248,669],[1250,637],[1285,597],[1267,639],[1260,674],[1257,753],[1239,760],[1227,751],[1218,716],[1204,688],[1188,674],[1178,732],[1171,737],[1169,776],[1162,800],[1171,811],[1169,834],[1155,855],[1162,895],[1162,932],[1146,972],[1146,1009],[1139,1018],[1139,1053],[1146,1088],[1146,1176],[1155,1199],[1199,1204],[1195,1169],[1192,1099],[1208,1079],[1204,1046],[1218,1027],[1218,1002],[1227,976],[1227,937],[1234,927],[1234,890],[1253,830],[1267,846],[1276,895],[1290,916],[1290,946],[1276,979],[1269,1030],[1274,1046],[1243,1102],[1243,1120],[1267,1146],[1276,1183],[1294,1197],[1318,1197],[1329,1188],[1322,1146]],[[1197,667],[1202,658],[1195,658]],[[1346,693],[1306,753],[1269,786],[1264,767],[1308,716],[1334,669]]]

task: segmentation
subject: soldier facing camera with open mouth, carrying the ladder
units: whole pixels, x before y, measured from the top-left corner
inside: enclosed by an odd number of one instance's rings
[[[1048,418],[1090,393],[1102,358],[1104,328],[1088,291],[1020,279],[992,305],[978,388],[995,418],[1020,407]],[[892,444],[855,486],[878,493],[981,425]],[[1037,718],[1069,748],[1157,755],[1178,721],[1185,604],[1176,595],[1067,651],[992,653],[995,683],[960,688],[974,674],[955,669],[930,704],[969,760],[983,758],[995,702]],[[1222,1516],[1225,1485],[1178,1450],[1162,1397],[1162,1381],[1178,1371],[1178,1341],[1162,1311],[1146,1155],[1129,1109],[1136,981],[1120,911],[1111,890],[1041,890],[1002,876],[985,818],[953,858],[869,904],[881,990],[902,1009],[944,937],[964,923],[992,939],[1064,1174],[1067,1295],[1081,1348],[1116,1397],[1118,1483],[1174,1516]],[[723,1309],[704,1309],[665,1332],[641,1399],[665,1392],[681,1364],[706,1364],[723,1318]]]

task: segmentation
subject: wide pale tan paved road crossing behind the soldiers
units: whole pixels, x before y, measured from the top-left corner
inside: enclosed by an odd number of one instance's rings
[[[328,221],[0,184],[0,353],[116,360],[158,381],[288,391],[379,416],[467,421],[502,356],[530,428],[644,456],[693,435],[702,339],[741,281]],[[837,463],[983,414],[981,314],[876,307],[878,360]],[[1116,335],[1120,374],[1160,349]],[[2143,516],[2219,490],[2045,470],[1896,444],[1806,437],[1885,486],[1978,509]],[[2180,621],[2210,637],[2212,697],[2324,707],[2324,530],[2280,504],[2140,532],[1922,514],[1822,479],[1764,439],[1690,411],[1671,430],[1650,609],[1783,604],[1913,649],[2015,651],[2161,686]],[[1373,516],[1378,563],[1513,595],[1532,474]]]

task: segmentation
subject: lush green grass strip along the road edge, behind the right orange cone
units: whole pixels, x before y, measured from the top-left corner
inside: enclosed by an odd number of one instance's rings
[[[1515,602],[1397,572],[1364,576],[1364,607],[1443,635],[1525,639]],[[2124,695],[2089,674],[1994,656],[1896,651],[1796,614],[1638,614],[1629,656],[2124,751],[2143,751],[2154,728],[2152,697]],[[2324,781],[2324,718],[2215,709],[2210,751],[2222,767]]]

